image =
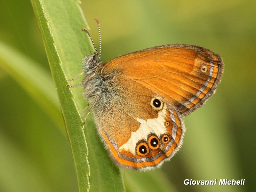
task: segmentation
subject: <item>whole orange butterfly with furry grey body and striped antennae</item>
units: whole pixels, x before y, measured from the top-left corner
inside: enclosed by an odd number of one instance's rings
[[[84,58],[80,75],[85,77],[79,85],[92,104],[110,156],[126,168],[160,166],[182,145],[181,118],[216,91],[223,73],[221,56],[195,45],[167,44],[103,63],[93,45],[95,52]]]

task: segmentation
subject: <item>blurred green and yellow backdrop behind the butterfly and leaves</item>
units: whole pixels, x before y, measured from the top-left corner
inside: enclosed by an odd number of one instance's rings
[[[0,7],[0,42],[50,75],[30,2],[2,0]],[[105,62],[172,43],[199,45],[222,55],[222,82],[203,107],[184,119],[184,144],[160,168],[166,176],[162,182],[171,182],[176,191],[254,191],[256,1],[95,0],[82,1],[81,7],[96,46],[94,17],[100,20]],[[63,121],[53,122],[2,68],[0,113],[0,191],[77,191]],[[141,191],[132,187],[127,170],[122,171],[127,189]],[[190,186],[185,179],[245,179],[245,185]],[[147,186],[145,182],[145,191],[150,191]]]

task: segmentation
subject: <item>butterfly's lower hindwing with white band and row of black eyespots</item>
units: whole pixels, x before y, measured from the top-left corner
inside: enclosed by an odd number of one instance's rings
[[[94,119],[114,161],[149,169],[173,156],[181,147],[185,126],[172,104],[122,75],[108,84],[112,91],[95,103]]]

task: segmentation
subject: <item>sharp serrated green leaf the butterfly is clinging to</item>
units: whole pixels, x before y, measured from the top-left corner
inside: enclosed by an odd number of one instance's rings
[[[73,153],[79,190],[89,190],[90,175],[90,191],[124,191],[120,171],[110,160],[100,142],[90,116],[84,126],[89,148],[88,155],[82,119],[78,111],[78,109],[82,111],[86,106],[82,89],[74,88],[72,94],[66,86],[68,84],[66,76],[72,78],[81,73],[83,57],[93,51],[88,36],[81,31],[81,28],[87,27],[87,24],[78,1],[31,0],[31,2],[57,88]],[[81,78],[78,78],[78,81],[81,82]],[[71,83],[76,84],[78,81]]]

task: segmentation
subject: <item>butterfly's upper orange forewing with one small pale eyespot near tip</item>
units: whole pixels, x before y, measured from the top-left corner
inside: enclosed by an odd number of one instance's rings
[[[163,96],[185,116],[215,92],[223,62],[203,47],[169,44],[117,57],[101,69],[114,70]]]

